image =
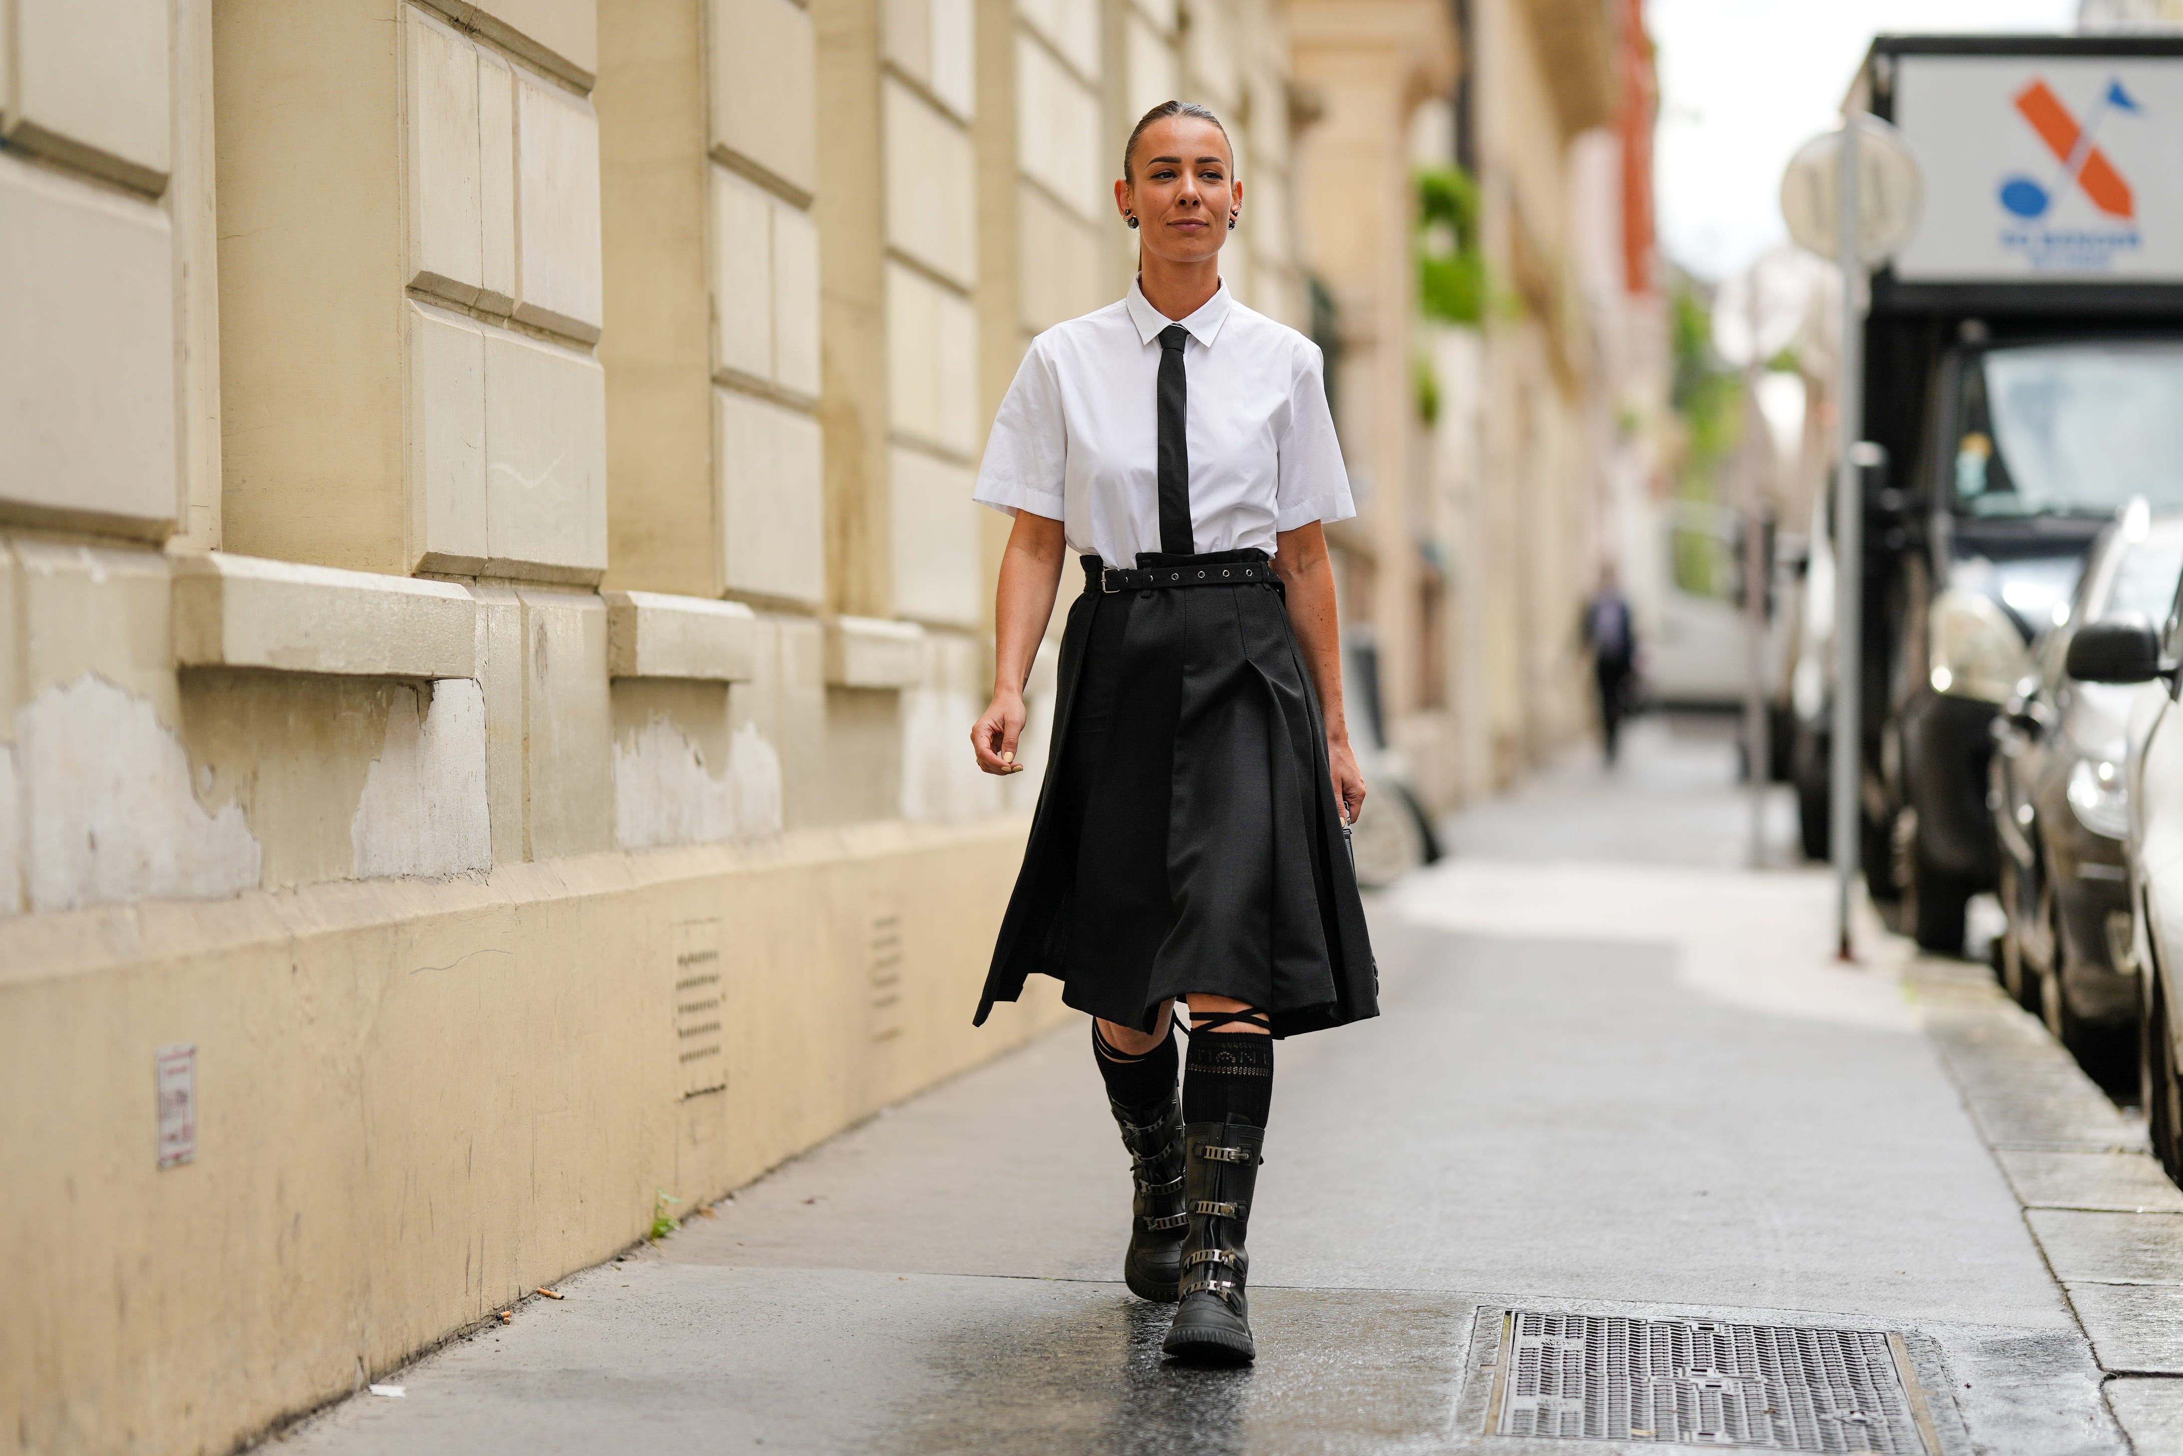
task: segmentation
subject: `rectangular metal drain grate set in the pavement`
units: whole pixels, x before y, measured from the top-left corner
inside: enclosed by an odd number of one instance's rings
[[[1939,1456],[1901,1336],[1500,1312],[1487,1430],[1766,1452]]]

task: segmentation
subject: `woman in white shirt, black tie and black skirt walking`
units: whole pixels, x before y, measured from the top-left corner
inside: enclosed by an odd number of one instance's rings
[[[1170,1356],[1233,1364],[1257,1353],[1244,1229],[1273,1041],[1377,1015],[1343,847],[1364,779],[1323,528],[1356,509],[1319,349],[1220,284],[1242,216],[1220,120],[1153,107],[1113,194],[1137,282],[1033,341],[978,472],[976,498],[1015,517],[993,703],[971,729],[987,773],[1022,771],[1024,683],[1065,552],[1085,570],[978,1022],[1033,971],[1094,1017],[1135,1174],[1122,1273],[1179,1301]]]

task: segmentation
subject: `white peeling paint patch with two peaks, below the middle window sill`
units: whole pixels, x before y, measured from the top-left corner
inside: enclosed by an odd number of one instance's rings
[[[624,849],[709,845],[782,832],[782,755],[744,723],[725,777],[666,716],[613,744],[613,834]]]

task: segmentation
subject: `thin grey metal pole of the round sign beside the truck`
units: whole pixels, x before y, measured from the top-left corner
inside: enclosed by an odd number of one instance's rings
[[[1862,847],[1864,718],[1858,688],[1864,677],[1862,607],[1864,607],[1864,482],[1858,476],[1858,437],[1864,432],[1864,310],[1858,288],[1864,282],[1864,255],[1858,238],[1858,129],[1856,114],[1842,114],[1840,148],[1840,258],[1842,258],[1842,345],[1836,349],[1836,458],[1834,458],[1834,917],[1836,954],[1851,960],[1849,912],[1856,904],[1858,860]]]

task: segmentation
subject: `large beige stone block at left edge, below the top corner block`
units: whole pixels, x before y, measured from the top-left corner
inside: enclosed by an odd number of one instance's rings
[[[166,214],[0,155],[0,513],[166,535],[175,264]]]

